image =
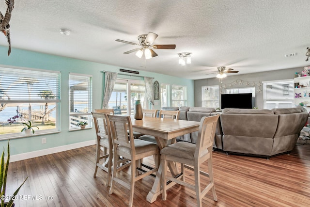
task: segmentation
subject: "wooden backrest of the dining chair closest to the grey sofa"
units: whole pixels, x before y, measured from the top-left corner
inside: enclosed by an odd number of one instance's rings
[[[195,154],[197,154],[197,156],[200,155],[203,150],[213,146],[218,117],[219,114],[215,116],[202,117],[196,144]]]

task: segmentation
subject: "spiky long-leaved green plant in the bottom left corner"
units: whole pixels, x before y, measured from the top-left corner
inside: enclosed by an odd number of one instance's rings
[[[9,202],[4,203],[5,201],[5,189],[6,189],[6,178],[8,175],[8,169],[9,169],[9,162],[10,162],[10,140],[8,142],[8,157],[6,159],[6,162],[4,162],[4,149],[1,155],[1,163],[0,163],[0,186],[1,186],[1,203],[0,203],[0,207],[14,207],[15,204],[14,199],[19,191],[19,189],[21,188],[21,186],[26,182],[26,180],[28,179],[28,177],[26,177],[26,179],[24,180],[24,182],[19,186],[19,188],[14,192],[14,194],[11,197],[11,199],[9,200]]]

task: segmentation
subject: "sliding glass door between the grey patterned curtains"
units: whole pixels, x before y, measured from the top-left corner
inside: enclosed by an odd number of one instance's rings
[[[148,108],[144,81],[117,79],[109,100],[109,109],[114,109],[114,114],[133,115],[135,100],[140,100],[142,109]]]

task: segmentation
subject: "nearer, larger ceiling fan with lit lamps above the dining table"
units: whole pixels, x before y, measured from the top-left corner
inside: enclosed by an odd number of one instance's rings
[[[124,40],[119,40],[119,39],[117,39],[115,41],[122,42],[125,44],[140,46],[140,48],[135,48],[135,49],[129,50],[127,52],[124,52],[124,54],[129,54],[129,53],[137,51],[136,55],[139,58],[141,58],[144,54],[145,59],[150,59],[150,58],[157,56],[156,52],[153,49],[175,49],[175,45],[153,45],[152,46],[152,43],[155,41],[155,39],[157,37],[158,37],[158,34],[155,34],[153,32],[149,32],[148,34],[141,34],[138,36],[139,44],[124,41]]]

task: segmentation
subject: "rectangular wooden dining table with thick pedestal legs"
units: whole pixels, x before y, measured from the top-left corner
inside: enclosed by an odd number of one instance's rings
[[[200,124],[200,122],[195,121],[163,119],[155,117],[144,117],[141,120],[131,118],[131,122],[134,131],[153,135],[160,149],[169,145],[171,140],[174,140],[178,136],[198,131]],[[168,166],[173,176],[179,175],[178,170],[173,163],[169,163]],[[150,203],[153,203],[157,196],[162,193],[160,188],[161,172],[162,167],[159,165],[152,190],[146,197],[146,200]]]

